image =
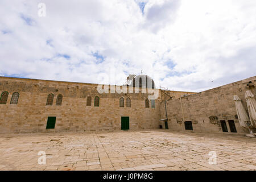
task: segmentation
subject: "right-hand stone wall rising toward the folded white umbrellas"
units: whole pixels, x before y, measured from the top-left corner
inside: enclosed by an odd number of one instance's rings
[[[254,86],[247,86],[249,81],[251,81],[250,85]],[[184,131],[184,121],[192,121],[193,131],[222,133],[220,121],[225,120],[230,133],[228,120],[233,120],[237,133],[248,133],[248,130],[243,129],[238,122],[233,96],[237,94],[241,98],[247,111],[245,92],[251,90],[256,95],[255,86],[256,76],[167,101],[168,128]],[[210,117],[217,119],[210,119]],[[166,118],[164,102],[160,102],[160,118]],[[161,124],[164,126],[163,122]]]

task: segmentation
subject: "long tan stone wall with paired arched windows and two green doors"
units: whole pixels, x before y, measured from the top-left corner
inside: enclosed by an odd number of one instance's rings
[[[158,89],[155,89],[158,90]],[[47,81],[26,78],[0,77],[0,93],[9,92],[6,104],[1,104],[0,133],[43,132],[47,118],[56,117],[54,131],[121,130],[121,117],[130,117],[130,129],[159,127],[159,98],[155,108],[145,108],[145,93],[102,93],[97,84]],[[10,104],[11,96],[19,92],[18,104]],[[54,94],[53,105],[46,105],[48,94]],[[55,105],[57,94],[63,94],[61,106]],[[92,97],[92,106],[86,106],[86,97]],[[100,97],[100,106],[94,107],[94,97]],[[119,98],[125,98],[125,107],[119,107]],[[126,98],[131,107],[126,107]]]

